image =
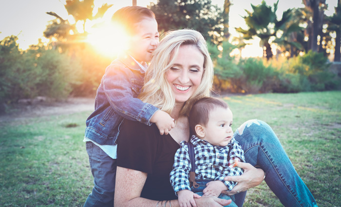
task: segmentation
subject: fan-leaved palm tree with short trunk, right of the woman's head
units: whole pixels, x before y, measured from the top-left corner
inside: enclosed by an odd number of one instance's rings
[[[253,12],[245,10],[247,16],[243,17],[248,29],[236,28],[236,31],[242,33],[245,39],[251,39],[255,36],[259,37],[261,39],[260,46],[264,51],[263,56],[267,59],[273,56],[270,45],[271,38],[276,39],[281,31],[286,32],[285,29],[290,29],[287,32],[292,32],[297,29],[294,25],[288,25],[292,18],[292,9],[284,11],[281,20],[277,19],[276,11],[278,1],[274,3],[273,7],[266,5],[264,0],[257,6],[251,4]]]

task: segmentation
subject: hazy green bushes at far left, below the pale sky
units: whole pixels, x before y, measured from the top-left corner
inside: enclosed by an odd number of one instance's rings
[[[20,52],[17,37],[0,41],[0,99],[13,102],[38,95],[64,98],[78,83],[76,58],[59,54],[42,44]]]

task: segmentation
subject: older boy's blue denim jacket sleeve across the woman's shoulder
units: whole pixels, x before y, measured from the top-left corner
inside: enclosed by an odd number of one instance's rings
[[[131,70],[122,66],[108,66],[102,80],[104,93],[116,113],[126,119],[151,125],[150,119],[159,109],[133,97],[135,92],[133,92],[132,75]]]

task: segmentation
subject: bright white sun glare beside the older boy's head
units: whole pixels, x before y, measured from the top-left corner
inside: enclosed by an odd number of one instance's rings
[[[87,41],[101,54],[112,57],[127,49],[128,35],[119,24],[107,23],[93,27],[89,31]]]

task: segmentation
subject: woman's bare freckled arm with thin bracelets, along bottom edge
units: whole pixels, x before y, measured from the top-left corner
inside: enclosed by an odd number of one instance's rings
[[[134,169],[117,167],[115,184],[115,207],[156,207],[159,201],[141,198],[142,188],[146,182],[147,173]],[[163,207],[166,201],[161,201],[158,207]],[[180,207],[177,200],[170,201],[170,207]],[[217,197],[202,197],[195,199],[198,207],[222,207],[231,203],[230,200]],[[166,206],[169,206],[167,202]]]

